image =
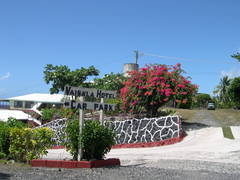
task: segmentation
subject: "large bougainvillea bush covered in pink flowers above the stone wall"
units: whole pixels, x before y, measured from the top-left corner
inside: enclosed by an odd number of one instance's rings
[[[130,72],[130,77],[121,89],[123,110],[146,111],[157,115],[159,107],[173,100],[176,104],[186,104],[197,92],[197,86],[184,77],[180,64],[146,65],[139,71]]]

